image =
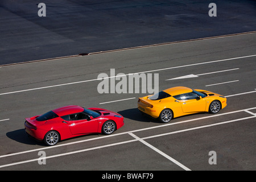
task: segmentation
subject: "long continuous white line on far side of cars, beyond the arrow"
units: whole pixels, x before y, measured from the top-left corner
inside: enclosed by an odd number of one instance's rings
[[[123,76],[129,76],[129,75],[140,74],[140,73],[164,71],[164,70],[167,70],[167,69],[176,69],[176,68],[191,67],[191,66],[200,65],[200,64],[217,63],[217,62],[221,62],[221,61],[229,61],[229,60],[235,60],[235,59],[243,59],[243,58],[254,57],[254,56],[256,56],[256,55],[241,56],[241,57],[233,57],[233,58],[230,58],[230,59],[222,59],[222,60],[209,61],[209,62],[196,63],[196,64],[188,64],[188,65],[182,65],[182,66],[178,66],[178,67],[170,67],[170,68],[163,68],[163,69],[154,69],[154,70],[151,70],[151,71],[144,71],[144,72],[138,72],[138,73],[129,73],[129,74],[126,74],[126,75],[125,75],[125,74],[124,74],[124,75],[121,75],[121,76],[111,76],[111,77],[105,77],[105,78],[96,78],[96,79],[92,79],[92,80],[84,80],[84,81],[70,82],[70,83],[67,83],[67,84],[59,84],[59,85],[52,85],[52,86],[43,86],[43,87],[34,88],[34,89],[26,89],[26,90],[14,91],[14,92],[0,93],[0,96],[5,95],[5,94],[12,94],[12,93],[19,93],[19,92],[27,92],[27,91],[31,91],[31,90],[39,90],[39,89],[53,88],[53,87],[56,87],[56,86],[65,86],[65,85],[71,85],[71,84],[80,84],[80,83],[83,83],[83,82],[102,80],[102,79],[106,79],[106,78],[123,77]]]

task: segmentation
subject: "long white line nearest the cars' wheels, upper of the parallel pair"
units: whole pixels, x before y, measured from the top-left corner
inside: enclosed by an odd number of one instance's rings
[[[106,135],[106,136],[104,136],[104,137],[90,138],[90,139],[85,139],[85,140],[79,140],[79,141],[76,141],[76,142],[70,142],[70,143],[64,143],[64,144],[57,144],[57,145],[55,145],[55,146],[50,146],[50,147],[42,147],[42,148],[36,148],[36,149],[33,149],[33,150],[27,150],[27,151],[22,151],[22,152],[16,152],[16,153],[13,153],[13,154],[0,155],[0,158],[5,158],[5,157],[8,157],[8,156],[12,156],[12,155],[26,154],[26,153],[29,153],[29,152],[35,152],[35,151],[40,151],[40,150],[47,150],[47,149],[52,149],[52,148],[56,148],[56,147],[63,147],[63,146],[71,145],[71,144],[89,142],[89,141],[97,140],[97,139],[104,139],[104,138],[108,138],[108,137],[115,137],[115,136],[118,136],[118,135],[124,135],[124,134],[128,134],[128,133],[135,133],[135,132],[138,132],[138,131],[151,130],[151,129],[156,129],[156,128],[159,128],[159,127],[166,127],[166,126],[171,126],[171,125],[179,125],[179,124],[181,124],[181,123],[187,123],[187,122],[197,121],[197,120],[200,120],[200,119],[208,119],[208,118],[212,118],[212,117],[218,117],[218,116],[221,116],[221,115],[239,113],[239,112],[243,112],[243,111],[251,110],[251,109],[256,109],[256,107],[251,107],[251,108],[248,108],[248,109],[241,109],[241,110],[230,111],[230,112],[228,112],[228,113],[222,113],[222,114],[213,114],[213,115],[209,115],[209,116],[207,116],[207,117],[201,117],[201,118],[195,118],[195,119],[188,119],[188,120],[185,120],[185,121],[180,121],[180,122],[175,122],[175,123],[167,123],[167,124],[159,125],[159,126],[146,127],[146,128],[144,128],[144,129],[126,131],[126,132],[123,132],[123,133],[117,133],[117,134],[112,134],[112,135]]]

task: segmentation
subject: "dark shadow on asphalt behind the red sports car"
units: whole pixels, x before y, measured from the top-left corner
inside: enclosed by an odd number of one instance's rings
[[[26,134],[25,129],[10,131],[10,132],[6,133],[6,136],[12,140],[15,140],[16,142],[19,142],[19,143],[44,146],[43,142],[39,142],[39,141],[35,140],[34,138],[29,137]]]

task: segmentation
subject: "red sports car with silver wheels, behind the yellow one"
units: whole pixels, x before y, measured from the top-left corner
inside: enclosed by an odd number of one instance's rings
[[[85,134],[109,135],[124,123],[122,115],[112,111],[71,105],[26,118],[24,125],[28,135],[53,146],[60,140]]]

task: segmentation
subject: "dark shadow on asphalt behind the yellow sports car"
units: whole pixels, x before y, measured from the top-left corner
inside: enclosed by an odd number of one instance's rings
[[[158,119],[152,118],[147,114],[143,114],[138,110],[138,108],[126,109],[118,111],[117,113],[121,114],[124,118],[132,119],[134,121],[159,123]]]

